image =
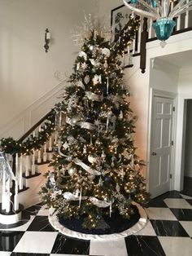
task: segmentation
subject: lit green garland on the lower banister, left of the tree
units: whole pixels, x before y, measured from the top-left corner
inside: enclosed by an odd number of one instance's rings
[[[12,137],[2,138],[0,140],[1,148],[5,153],[14,155],[15,153],[30,155],[33,153],[33,149],[36,150],[46,143],[50,138],[50,135],[55,130],[55,109],[52,109],[50,115],[46,118],[46,121],[41,126],[41,131],[38,131],[36,136],[29,135],[24,142],[20,142],[20,139],[15,140]]]

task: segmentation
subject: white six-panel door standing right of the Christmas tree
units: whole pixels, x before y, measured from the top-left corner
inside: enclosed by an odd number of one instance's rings
[[[170,190],[172,177],[172,120],[174,99],[153,96],[151,113],[150,192]]]

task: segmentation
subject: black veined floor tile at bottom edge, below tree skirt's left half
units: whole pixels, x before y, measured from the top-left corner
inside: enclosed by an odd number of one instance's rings
[[[89,255],[89,241],[72,239],[58,234],[51,254],[83,254]]]

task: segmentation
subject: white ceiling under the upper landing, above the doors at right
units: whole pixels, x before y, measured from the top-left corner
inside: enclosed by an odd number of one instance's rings
[[[192,68],[192,51],[182,51],[172,55],[164,55],[158,58],[178,68]]]

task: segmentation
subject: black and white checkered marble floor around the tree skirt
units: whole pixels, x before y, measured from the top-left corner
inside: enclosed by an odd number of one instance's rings
[[[50,226],[48,211],[35,205],[24,211],[20,227],[0,224],[0,256],[191,256],[192,197],[168,192],[146,208],[149,221],[137,235],[116,241],[79,241]],[[28,220],[28,221],[27,221]]]

